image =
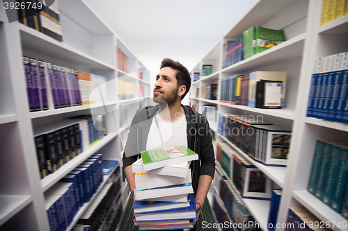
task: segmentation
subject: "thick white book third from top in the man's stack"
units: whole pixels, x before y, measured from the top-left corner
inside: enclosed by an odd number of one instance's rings
[[[177,178],[175,176],[161,176],[149,173],[135,173],[136,190],[153,189],[158,187],[166,187],[170,185],[182,185],[191,183],[191,172],[187,172],[186,178]]]

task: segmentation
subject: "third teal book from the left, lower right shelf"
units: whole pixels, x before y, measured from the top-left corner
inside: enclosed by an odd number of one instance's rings
[[[329,170],[326,176],[324,191],[322,200],[324,204],[329,205],[331,203],[331,191],[334,187],[333,181],[336,178],[336,171],[338,166],[338,160],[340,157],[341,148],[339,145],[331,146],[330,160],[329,160]]]

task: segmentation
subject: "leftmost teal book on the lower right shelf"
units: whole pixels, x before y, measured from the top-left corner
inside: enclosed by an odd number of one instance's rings
[[[308,182],[308,191],[313,195],[317,186],[320,166],[322,165],[323,146],[324,142],[322,140],[317,140],[317,143],[315,144],[315,154],[313,157],[312,169],[310,170],[310,178]]]

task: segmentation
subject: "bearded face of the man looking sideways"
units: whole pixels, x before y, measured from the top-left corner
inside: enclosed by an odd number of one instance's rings
[[[175,75],[176,70],[171,67],[164,67],[159,70],[153,93],[155,103],[163,103],[164,100],[168,105],[172,105],[177,101],[179,87]]]

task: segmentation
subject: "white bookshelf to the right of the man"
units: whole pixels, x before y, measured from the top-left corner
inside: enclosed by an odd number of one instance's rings
[[[276,1],[260,0],[246,12],[246,15],[233,26],[226,35],[216,42],[207,54],[193,67],[191,72],[201,72],[203,64],[214,65],[213,74],[201,76],[192,83],[191,103],[216,105],[218,113],[245,114],[262,116],[264,121],[292,128],[292,143],[287,167],[264,166],[248,157],[217,132],[216,125],[211,126],[216,132],[216,142],[226,142],[252,164],[267,174],[275,185],[283,189],[277,223],[287,221],[289,207],[303,206],[315,214],[318,219],[331,223],[331,229],[342,231],[345,228],[333,227],[334,223],[346,221],[342,216],[324,205],[307,191],[310,169],[313,162],[317,139],[342,139],[347,137],[347,124],[306,117],[310,76],[316,58],[348,51],[348,15],[319,26],[322,1]],[[223,44],[237,40],[251,26],[282,29],[286,42],[255,54],[235,65],[223,68]],[[233,74],[249,74],[253,71],[287,71],[287,92],[285,108],[264,110],[248,108],[243,105],[230,105],[220,101],[201,99],[201,92],[196,96],[196,89],[202,89],[210,83],[221,83],[221,79]],[[218,92],[221,93],[220,85]],[[219,94],[220,96],[220,94]],[[219,165],[217,166],[219,168]],[[245,200],[255,221],[266,222],[269,202]],[[264,203],[264,204],[260,204]],[[277,228],[276,231],[283,231]]]

